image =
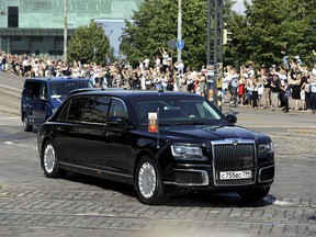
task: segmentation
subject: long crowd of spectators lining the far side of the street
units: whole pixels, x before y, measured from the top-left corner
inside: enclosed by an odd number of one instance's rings
[[[213,100],[214,84],[207,79],[207,70],[184,67],[183,61],[172,64],[165,48],[161,55],[151,59],[144,57],[137,66],[126,59],[111,63],[104,57],[104,64],[65,63],[49,57],[35,55],[0,54],[0,70],[22,77],[61,77],[90,78],[94,87],[127,88],[142,90],[172,90],[198,93]],[[314,52],[316,57],[316,52]],[[284,61],[284,60],[283,60]],[[218,104],[230,106],[252,106],[274,111],[283,108],[315,113],[316,111],[316,61],[313,68],[306,67],[298,56],[287,65],[270,67],[249,61],[239,68],[226,66],[217,80]],[[295,101],[290,108],[289,100]],[[217,104],[217,105],[218,105]]]

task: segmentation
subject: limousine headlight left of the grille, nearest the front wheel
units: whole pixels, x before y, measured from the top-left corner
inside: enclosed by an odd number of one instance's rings
[[[171,151],[174,158],[195,159],[203,157],[202,149],[199,146],[172,145]]]

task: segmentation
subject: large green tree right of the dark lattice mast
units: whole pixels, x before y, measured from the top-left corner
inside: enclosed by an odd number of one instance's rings
[[[315,47],[314,0],[245,1],[246,15],[233,15],[233,42],[227,46],[226,60],[241,65],[282,64],[281,48],[286,45],[289,58],[305,56],[312,61]]]

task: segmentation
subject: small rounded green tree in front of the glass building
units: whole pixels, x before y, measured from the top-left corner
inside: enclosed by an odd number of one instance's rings
[[[68,60],[81,60],[82,64],[95,61],[103,64],[105,55],[113,56],[104,30],[91,22],[88,26],[75,29],[68,45]]]

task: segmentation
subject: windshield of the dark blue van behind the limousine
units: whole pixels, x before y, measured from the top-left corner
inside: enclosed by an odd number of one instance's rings
[[[52,98],[66,98],[67,94],[80,88],[91,88],[90,81],[56,81],[50,83],[50,97]]]

